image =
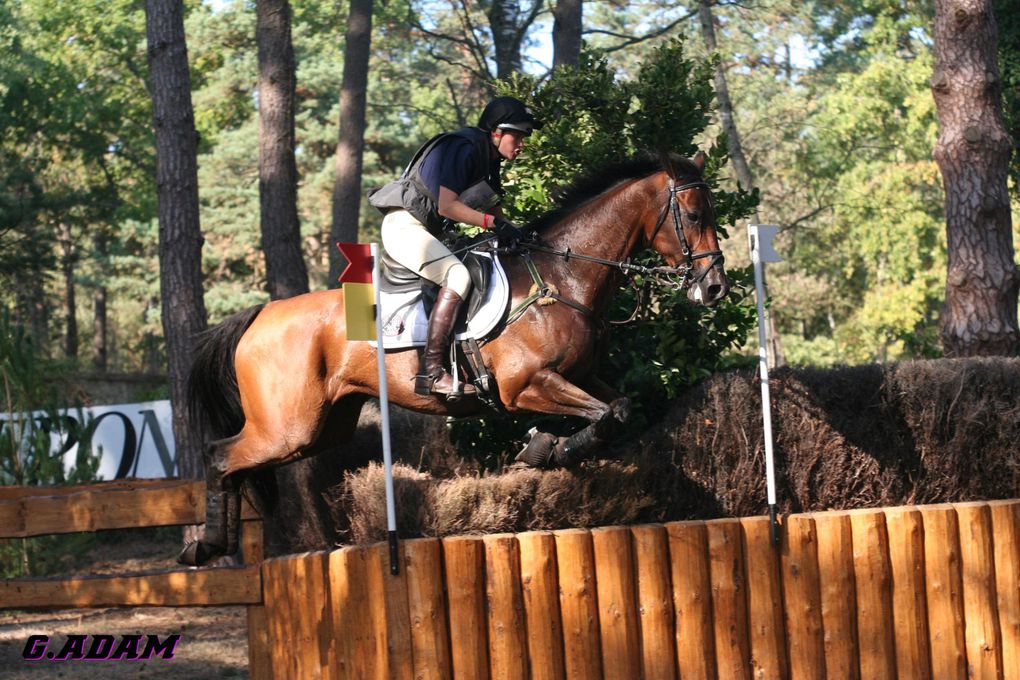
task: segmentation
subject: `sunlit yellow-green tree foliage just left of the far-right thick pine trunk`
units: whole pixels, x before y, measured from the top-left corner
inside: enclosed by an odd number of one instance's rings
[[[937,354],[946,237],[931,160],[931,68],[926,51],[876,50],[859,70],[835,76],[811,112],[796,181],[830,205],[815,228],[787,237],[788,263],[776,269],[775,319],[785,342],[821,348],[803,341],[826,335],[839,363]],[[792,270],[822,284],[819,295],[806,299],[798,278],[783,280]]]

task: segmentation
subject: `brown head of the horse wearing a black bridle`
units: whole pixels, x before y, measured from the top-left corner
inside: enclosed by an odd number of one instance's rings
[[[688,268],[687,299],[709,307],[729,293],[722,251],[716,233],[715,209],[702,176],[705,154],[693,161],[666,163],[664,205],[646,224],[646,238],[671,267]]]

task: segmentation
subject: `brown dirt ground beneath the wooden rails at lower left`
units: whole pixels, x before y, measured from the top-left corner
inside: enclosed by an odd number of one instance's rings
[[[178,534],[177,534],[178,535]],[[73,574],[173,569],[178,543],[173,532],[137,540],[103,542],[80,559]],[[59,651],[67,635],[180,634],[173,659],[149,661],[40,661],[21,657],[30,635],[48,635]],[[50,612],[0,611],[0,678],[166,678],[205,680],[248,677],[247,614],[244,607],[144,607]]]

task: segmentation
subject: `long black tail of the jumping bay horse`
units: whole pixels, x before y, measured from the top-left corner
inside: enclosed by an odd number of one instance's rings
[[[238,312],[195,337],[194,360],[188,373],[188,416],[213,440],[237,434],[244,427],[234,353],[264,306]]]

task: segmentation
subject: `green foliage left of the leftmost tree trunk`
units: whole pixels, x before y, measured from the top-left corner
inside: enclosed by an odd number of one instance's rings
[[[5,1],[0,25],[0,304],[48,312],[69,295],[58,260],[88,301],[120,273],[120,224],[155,212],[145,17],[135,0]]]

